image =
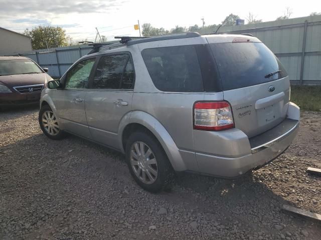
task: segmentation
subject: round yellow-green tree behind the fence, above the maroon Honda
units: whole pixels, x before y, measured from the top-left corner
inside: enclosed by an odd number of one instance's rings
[[[24,31],[24,34],[31,37],[33,49],[42,49],[48,47],[67,46],[68,39],[66,36],[66,30],[60,26],[42,26]]]

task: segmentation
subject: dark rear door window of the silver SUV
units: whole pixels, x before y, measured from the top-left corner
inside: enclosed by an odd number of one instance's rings
[[[132,89],[134,67],[128,54],[102,56],[98,62],[92,88]]]

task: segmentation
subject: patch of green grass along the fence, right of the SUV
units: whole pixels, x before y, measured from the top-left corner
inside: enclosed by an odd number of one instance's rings
[[[302,111],[321,111],[321,86],[291,85],[291,101]]]

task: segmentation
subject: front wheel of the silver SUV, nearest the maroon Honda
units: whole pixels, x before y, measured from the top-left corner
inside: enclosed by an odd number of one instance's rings
[[[60,129],[58,118],[49,105],[41,107],[38,119],[41,130],[50,139],[60,140],[66,136],[66,133]]]

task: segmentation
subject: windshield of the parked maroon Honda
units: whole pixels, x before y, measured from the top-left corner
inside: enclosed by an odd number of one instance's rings
[[[0,60],[0,75],[43,73],[32,60]]]

